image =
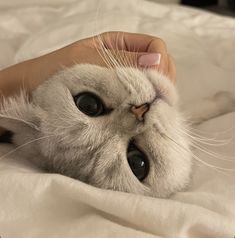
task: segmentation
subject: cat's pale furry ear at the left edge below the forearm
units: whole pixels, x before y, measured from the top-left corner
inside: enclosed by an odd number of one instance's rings
[[[26,94],[21,92],[15,97],[4,98],[0,108],[0,127],[7,129],[14,134],[30,134],[38,131],[34,119],[33,106]]]

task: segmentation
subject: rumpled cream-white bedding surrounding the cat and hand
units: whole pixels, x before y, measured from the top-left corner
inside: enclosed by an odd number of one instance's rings
[[[164,38],[176,60],[182,106],[193,109],[222,91],[235,96],[235,20],[147,1],[1,0],[0,67],[107,30]],[[190,188],[169,199],[102,190],[46,174],[23,162],[17,151],[4,153],[2,145],[0,237],[233,238],[235,112],[194,132],[217,145],[207,145],[214,156],[195,149]],[[221,140],[225,143],[218,146]]]

